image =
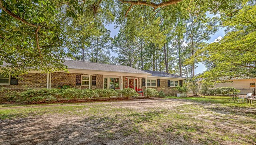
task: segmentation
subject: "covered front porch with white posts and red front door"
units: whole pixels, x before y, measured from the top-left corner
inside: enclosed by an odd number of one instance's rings
[[[66,72],[54,72],[48,74],[47,86],[49,89],[58,86],[69,85],[80,89],[115,89],[132,88],[136,91],[142,89],[142,78],[145,74],[113,73],[91,70],[68,70]]]

